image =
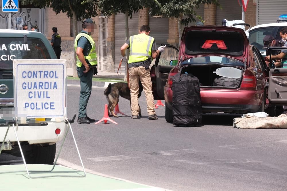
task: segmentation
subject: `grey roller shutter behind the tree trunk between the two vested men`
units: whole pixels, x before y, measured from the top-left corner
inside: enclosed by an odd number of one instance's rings
[[[132,15],[132,19],[129,18],[129,37],[139,34],[138,29],[138,13]],[[115,17],[115,72],[117,72],[122,55],[121,46],[125,43],[125,14],[117,13]],[[122,71],[124,71],[124,65],[122,65]]]

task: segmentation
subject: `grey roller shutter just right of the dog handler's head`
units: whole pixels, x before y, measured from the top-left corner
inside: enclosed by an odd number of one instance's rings
[[[167,43],[168,39],[168,18],[149,17],[150,36],[156,41],[159,47],[162,43]]]

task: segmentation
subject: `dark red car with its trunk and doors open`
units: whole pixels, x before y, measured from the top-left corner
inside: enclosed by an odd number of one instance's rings
[[[165,100],[167,122],[172,122],[172,77],[178,72],[199,79],[203,113],[242,114],[269,107],[269,115],[276,115],[276,108],[287,105],[287,68],[269,69],[243,29],[185,27],[181,40],[179,50],[167,45],[150,71],[154,99]],[[238,83],[216,85],[222,76]]]

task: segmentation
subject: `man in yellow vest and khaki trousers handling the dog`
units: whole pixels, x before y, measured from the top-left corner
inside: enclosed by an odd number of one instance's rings
[[[131,119],[137,119],[139,114],[138,94],[139,80],[141,80],[148,109],[148,119],[158,119],[154,110],[154,97],[152,94],[152,81],[150,78],[151,60],[163,52],[165,46],[157,48],[154,38],[149,36],[150,27],[142,25],[139,34],[131,36],[121,47],[122,60],[125,59],[125,51],[129,49],[129,85],[131,90]]]

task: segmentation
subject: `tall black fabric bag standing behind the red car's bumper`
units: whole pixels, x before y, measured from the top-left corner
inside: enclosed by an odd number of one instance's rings
[[[172,79],[172,115],[174,125],[201,124],[199,80],[192,74],[175,74]]]

